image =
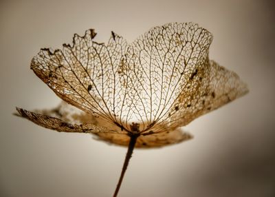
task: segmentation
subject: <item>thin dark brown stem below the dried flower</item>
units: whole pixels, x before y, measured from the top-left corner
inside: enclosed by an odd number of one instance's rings
[[[125,174],[126,169],[128,167],[129,160],[130,160],[130,158],[133,154],[133,149],[135,147],[135,143],[137,141],[138,136],[139,135],[131,135],[130,136],[130,142],[129,142],[129,145],[128,145],[128,150],[127,150],[126,157],[125,157],[125,160],[124,160],[124,164],[123,164],[123,167],[122,167],[122,172],[120,174],[120,180],[118,180],[118,185],[116,186],[115,193],[113,194],[113,197],[116,197],[118,195],[118,191],[120,190],[120,185],[122,183],[124,174]]]

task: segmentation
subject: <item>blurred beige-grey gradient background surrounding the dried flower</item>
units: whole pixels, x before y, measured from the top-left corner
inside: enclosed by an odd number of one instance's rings
[[[30,70],[40,48],[111,30],[129,42],[155,25],[194,21],[214,34],[210,59],[250,93],[198,118],[194,139],[135,150],[119,196],[275,196],[272,1],[0,1],[0,196],[111,196],[126,149],[12,116],[59,98]]]

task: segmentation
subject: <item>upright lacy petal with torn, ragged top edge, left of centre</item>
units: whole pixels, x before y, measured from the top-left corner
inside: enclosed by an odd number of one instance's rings
[[[75,34],[73,45],[65,44],[63,50],[42,49],[31,68],[67,103],[118,122],[122,110],[118,67],[126,41],[113,33],[105,45],[93,41],[95,36],[94,30],[87,30],[84,37]]]

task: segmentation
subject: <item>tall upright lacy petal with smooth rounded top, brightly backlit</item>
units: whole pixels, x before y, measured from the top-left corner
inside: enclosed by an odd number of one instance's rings
[[[195,23],[168,23],[131,44],[124,69],[126,100],[133,103],[130,114],[143,123],[141,130],[166,121],[195,70],[208,64],[211,41],[212,34]]]

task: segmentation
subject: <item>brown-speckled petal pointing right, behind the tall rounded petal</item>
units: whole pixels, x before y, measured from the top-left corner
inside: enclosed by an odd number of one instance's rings
[[[239,76],[214,61],[197,69],[181,94],[164,117],[170,128],[182,127],[198,116],[216,110],[218,107],[248,93],[248,87]]]

